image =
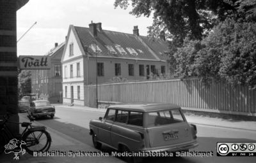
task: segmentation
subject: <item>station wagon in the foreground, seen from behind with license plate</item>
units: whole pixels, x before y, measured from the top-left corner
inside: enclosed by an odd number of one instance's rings
[[[176,152],[198,146],[196,125],[188,124],[180,106],[127,103],[109,106],[104,118],[90,121],[95,148],[119,151]]]

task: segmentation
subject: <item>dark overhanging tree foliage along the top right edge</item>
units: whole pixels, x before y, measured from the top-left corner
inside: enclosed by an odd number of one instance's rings
[[[132,15],[153,15],[149,36],[157,37],[164,30],[175,46],[182,46],[186,37],[202,39],[227,17],[250,21],[256,13],[256,0],[115,0],[114,4],[115,8],[123,9],[129,5]]]

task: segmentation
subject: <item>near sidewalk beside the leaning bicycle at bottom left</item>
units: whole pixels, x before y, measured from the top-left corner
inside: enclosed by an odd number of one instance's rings
[[[28,122],[28,119],[25,117],[20,116],[20,122]],[[33,122],[34,125],[40,125],[38,124],[38,122]],[[20,127],[20,131],[22,131],[22,128]],[[102,162],[102,160],[104,160],[104,162],[114,162],[114,163],[118,163],[118,162],[123,162],[120,159],[117,159],[116,157],[111,157],[111,156],[107,156],[107,155],[100,155],[100,151],[96,150],[95,148],[93,148],[92,146],[88,146],[80,141],[77,141],[76,139],[73,139],[65,134],[62,134],[61,132],[55,131],[51,128],[47,128],[47,132],[49,132],[51,134],[51,138],[52,138],[52,143],[51,143],[51,148],[49,149],[49,152],[65,152],[66,156],[65,157],[61,157],[56,156],[56,157],[34,157],[33,155],[30,155],[29,153],[25,153],[24,155],[20,155],[20,159],[19,160],[13,160],[14,157],[14,153],[9,153],[9,154],[5,154],[2,153],[0,155],[0,162],[1,163],[10,163],[10,162],[15,162],[15,163],[43,163],[43,162],[47,162],[47,163],[69,163],[69,162],[76,162],[76,163],[83,163],[83,162]],[[90,152],[91,154],[93,152],[95,152],[95,155],[83,155],[83,156],[79,156],[79,155],[74,155],[74,153],[72,152]],[[79,154],[79,153],[77,153]]]

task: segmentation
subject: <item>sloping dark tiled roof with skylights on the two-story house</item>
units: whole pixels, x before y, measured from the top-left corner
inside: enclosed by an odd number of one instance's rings
[[[164,51],[168,50],[166,41],[150,41],[145,36],[136,36],[134,34],[127,34],[122,32],[97,30],[97,37],[94,38],[90,33],[89,28],[74,27],[76,29],[78,38],[84,48],[89,53],[89,56],[95,56],[95,52],[90,48],[95,41],[102,52],[97,52],[98,57],[118,57],[125,59],[148,59],[148,60],[166,60]],[[127,54],[120,53],[116,46],[120,45],[124,48]],[[111,53],[106,46],[112,46],[116,53]],[[132,55],[127,48],[133,48],[138,55]],[[163,55],[160,55],[162,53]]]

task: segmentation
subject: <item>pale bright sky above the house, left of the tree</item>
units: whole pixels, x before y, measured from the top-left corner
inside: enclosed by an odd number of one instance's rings
[[[17,55],[44,55],[54,43],[62,43],[70,24],[89,27],[101,22],[102,29],[131,33],[138,25],[141,36],[147,36],[152,18],[129,14],[131,9],[115,9],[115,0],[29,0],[17,11],[17,39],[31,25],[31,30],[17,43]]]

